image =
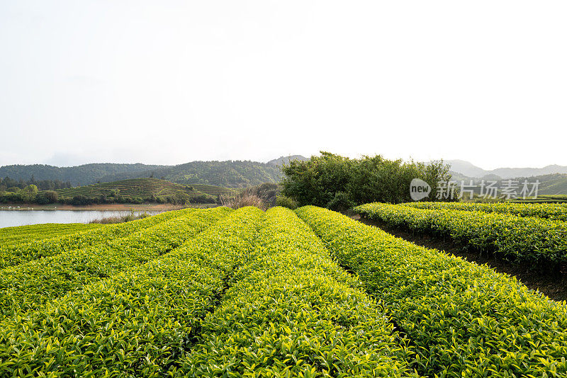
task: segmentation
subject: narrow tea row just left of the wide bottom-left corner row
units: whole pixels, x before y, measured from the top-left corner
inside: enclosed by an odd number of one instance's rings
[[[0,314],[35,309],[96,280],[157,258],[181,246],[232,210],[196,210],[124,238],[40,258],[1,270]]]

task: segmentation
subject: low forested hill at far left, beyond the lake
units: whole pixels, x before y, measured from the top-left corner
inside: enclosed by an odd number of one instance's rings
[[[82,166],[58,167],[45,164],[0,166],[0,177],[16,181],[50,180],[69,181],[72,185],[89,185],[100,181],[101,177],[113,173],[140,172],[167,166],[146,164],[84,164]]]

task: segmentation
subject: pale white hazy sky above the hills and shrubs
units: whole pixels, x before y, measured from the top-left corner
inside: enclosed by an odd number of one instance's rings
[[[0,165],[567,165],[567,1],[0,0]]]

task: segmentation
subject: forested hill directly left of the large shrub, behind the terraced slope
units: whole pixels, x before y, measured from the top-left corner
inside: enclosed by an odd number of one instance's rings
[[[225,188],[247,188],[261,183],[276,183],[282,177],[281,168],[257,161],[192,161],[179,166],[142,172],[114,173],[100,181],[118,181],[127,178],[164,178],[180,184],[201,183]]]

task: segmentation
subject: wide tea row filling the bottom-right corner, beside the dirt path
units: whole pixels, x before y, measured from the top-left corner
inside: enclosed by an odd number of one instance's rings
[[[567,304],[318,207],[296,213],[381,299],[429,377],[567,377]]]

